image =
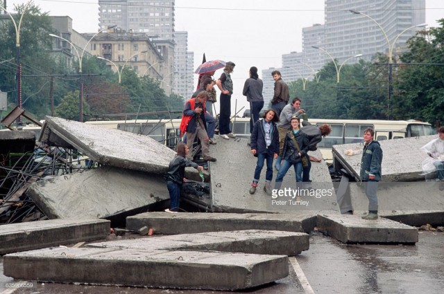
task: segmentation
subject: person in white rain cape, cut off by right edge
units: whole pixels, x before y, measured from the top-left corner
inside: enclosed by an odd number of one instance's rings
[[[444,127],[438,128],[438,138],[433,139],[423,147],[422,150],[427,152],[429,158],[426,163],[431,163],[433,169],[438,173],[439,190],[444,190]],[[423,164],[424,165],[424,164]],[[433,170],[434,171],[434,170]],[[427,171],[428,172],[428,171]]]

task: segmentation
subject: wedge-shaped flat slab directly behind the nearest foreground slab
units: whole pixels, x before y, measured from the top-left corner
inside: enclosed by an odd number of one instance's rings
[[[294,256],[309,249],[309,235],[303,232],[239,230],[99,242],[87,246],[148,251],[195,250]]]

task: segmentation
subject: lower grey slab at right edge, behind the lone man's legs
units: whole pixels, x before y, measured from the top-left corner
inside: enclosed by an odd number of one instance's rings
[[[349,183],[352,208],[356,213],[368,210],[364,185]],[[409,226],[444,223],[444,192],[436,181],[380,182],[377,189],[379,215]]]

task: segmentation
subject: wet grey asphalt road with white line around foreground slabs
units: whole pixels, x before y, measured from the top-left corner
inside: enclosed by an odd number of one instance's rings
[[[444,233],[420,231],[415,246],[342,244],[316,233],[310,249],[291,257],[289,267],[285,279],[241,293],[444,293]],[[13,281],[0,275],[0,294],[232,293],[35,282],[33,288],[5,288]]]

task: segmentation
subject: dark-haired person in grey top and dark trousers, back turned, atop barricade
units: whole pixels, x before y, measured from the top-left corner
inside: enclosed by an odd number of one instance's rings
[[[257,75],[256,66],[250,67],[249,74],[250,77],[245,81],[242,93],[244,96],[247,96],[247,101],[250,103],[250,134],[252,134],[253,127],[257,120],[259,120],[259,113],[264,107],[264,96],[262,95],[264,83]],[[278,114],[276,114],[276,118],[279,119]]]

